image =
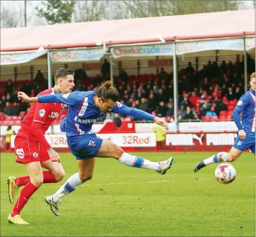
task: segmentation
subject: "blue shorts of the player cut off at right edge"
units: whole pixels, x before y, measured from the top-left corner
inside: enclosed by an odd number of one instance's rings
[[[236,141],[233,147],[241,151],[249,148],[252,153],[255,154],[255,132],[246,132],[246,138],[244,140],[242,140],[237,133]]]

